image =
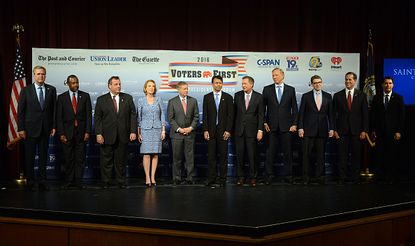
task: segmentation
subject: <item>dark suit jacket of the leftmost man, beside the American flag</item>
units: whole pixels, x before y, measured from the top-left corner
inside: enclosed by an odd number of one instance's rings
[[[36,86],[37,87],[37,86]],[[28,137],[39,137],[42,129],[49,135],[55,128],[56,88],[45,83],[45,107],[42,110],[35,84],[26,86],[20,92],[18,131],[26,131]]]

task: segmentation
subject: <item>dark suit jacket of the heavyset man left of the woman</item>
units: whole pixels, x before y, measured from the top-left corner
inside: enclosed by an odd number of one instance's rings
[[[119,94],[118,114],[112,103],[111,94],[97,98],[95,106],[95,133],[104,137],[105,144],[130,141],[130,133],[137,133],[137,113],[133,98],[125,93]]]

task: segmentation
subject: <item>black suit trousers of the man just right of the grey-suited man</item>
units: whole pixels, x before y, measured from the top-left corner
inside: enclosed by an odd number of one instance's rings
[[[219,160],[219,177],[226,181],[228,171],[228,141],[223,140],[223,132],[216,131],[208,140],[208,182],[215,182],[217,177],[216,161]]]

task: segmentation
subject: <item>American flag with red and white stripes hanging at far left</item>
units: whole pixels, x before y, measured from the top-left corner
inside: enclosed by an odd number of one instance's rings
[[[17,133],[17,105],[19,104],[20,91],[26,86],[26,76],[19,40],[17,40],[16,61],[13,68],[13,77],[14,82],[10,95],[9,127],[7,136],[7,147],[9,149],[13,147],[14,143],[20,140]]]

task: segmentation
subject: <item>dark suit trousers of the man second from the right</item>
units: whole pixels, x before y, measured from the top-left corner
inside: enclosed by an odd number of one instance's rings
[[[358,181],[360,174],[361,147],[359,135],[340,135],[338,142],[338,171],[339,178],[344,180],[347,175],[347,164],[350,153],[350,179]]]

